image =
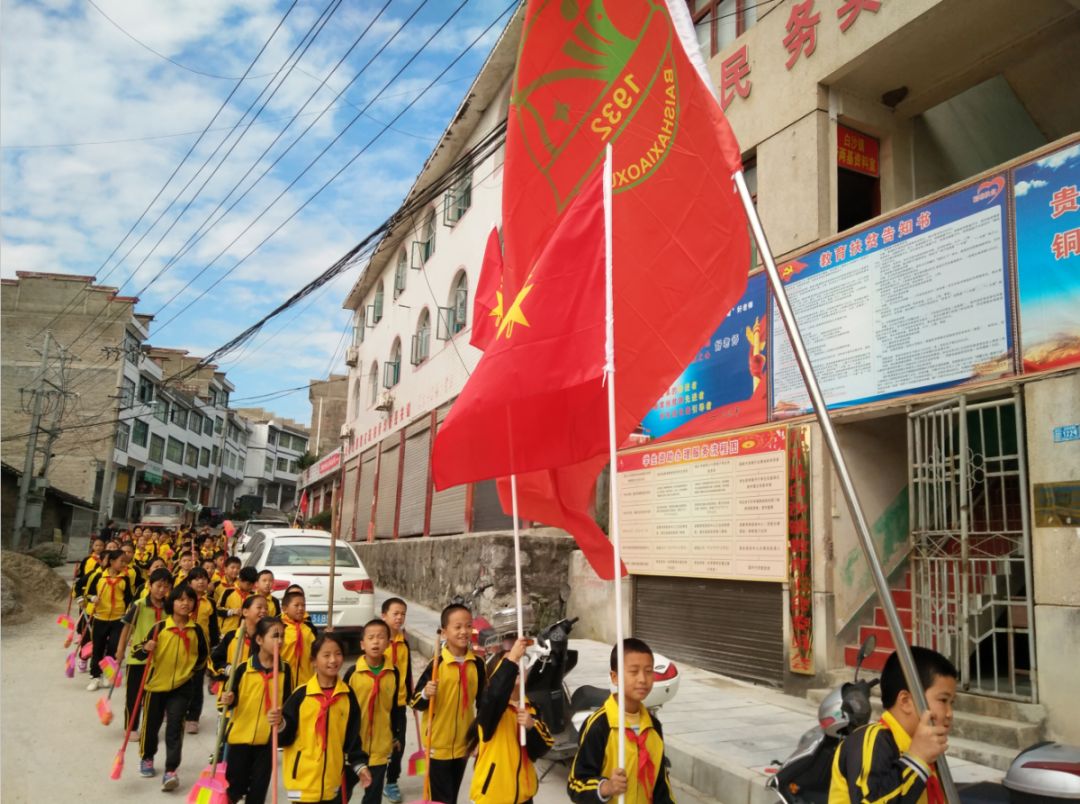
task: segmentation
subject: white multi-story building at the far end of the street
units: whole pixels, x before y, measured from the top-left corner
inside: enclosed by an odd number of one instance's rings
[[[238,408],[247,428],[247,452],[240,494],[261,497],[279,511],[296,507],[300,458],[308,452],[303,425],[260,407]]]

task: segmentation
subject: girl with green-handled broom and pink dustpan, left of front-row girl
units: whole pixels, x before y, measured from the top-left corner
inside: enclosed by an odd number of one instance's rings
[[[271,750],[271,729],[281,724],[281,708],[293,693],[292,671],[278,660],[278,706],[272,707],[274,656],[280,655],[284,629],[273,617],[264,617],[255,627],[258,649],[232,674],[221,704],[232,712],[229,733],[229,762],[225,777],[230,802],[262,804],[270,786],[270,772],[278,758]],[[276,649],[275,649],[276,648]],[[246,798],[245,798],[246,796]]]

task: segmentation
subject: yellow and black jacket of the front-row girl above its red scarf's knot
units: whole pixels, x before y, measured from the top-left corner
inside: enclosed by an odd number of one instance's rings
[[[340,801],[346,767],[359,775],[367,766],[352,689],[341,680],[323,689],[312,675],[285,701],[282,716],[278,742],[285,747],[282,769],[289,801]]]

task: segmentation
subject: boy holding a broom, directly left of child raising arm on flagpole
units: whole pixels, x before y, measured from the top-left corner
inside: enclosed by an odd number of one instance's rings
[[[472,652],[472,614],[462,605],[443,609],[442,635],[446,646],[438,657],[438,672],[431,665],[417,682],[409,705],[423,712],[423,728],[431,729],[429,779],[431,801],[454,804],[469,761],[468,734],[484,692],[484,661]]]

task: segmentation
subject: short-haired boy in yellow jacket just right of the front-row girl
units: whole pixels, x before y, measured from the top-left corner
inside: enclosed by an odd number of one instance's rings
[[[363,655],[345,674],[345,683],[356,696],[360,704],[360,741],[367,753],[367,769],[372,773],[372,783],[364,791],[362,804],[379,804],[382,801],[382,782],[387,775],[390,753],[394,748],[391,712],[397,700],[400,676],[397,669],[386,658],[390,627],[382,620],[370,620],[364,626],[361,638]],[[355,780],[348,779],[346,798],[352,796]]]

